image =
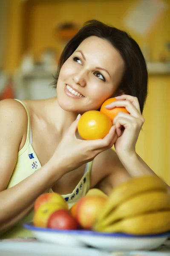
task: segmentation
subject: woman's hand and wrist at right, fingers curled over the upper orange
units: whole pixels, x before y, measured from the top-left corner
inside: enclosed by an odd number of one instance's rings
[[[138,140],[144,117],[141,115],[138,99],[130,95],[115,97],[117,101],[108,105],[107,109],[125,107],[130,113],[119,112],[113,120],[116,126],[118,138],[115,142],[115,150],[119,156],[133,154]]]

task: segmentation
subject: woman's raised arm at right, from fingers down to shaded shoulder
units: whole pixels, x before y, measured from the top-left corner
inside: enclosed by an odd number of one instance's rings
[[[135,151],[135,144],[144,124],[138,99],[129,95],[122,95],[117,99],[118,101],[112,102],[107,108],[125,107],[130,114],[119,112],[113,121],[118,135],[114,143],[116,153],[108,150],[94,160],[95,172],[99,172],[101,166],[103,170],[107,170],[105,178],[98,184],[107,194],[112,187],[118,186],[130,177],[156,175]],[[170,192],[168,185],[167,189]]]

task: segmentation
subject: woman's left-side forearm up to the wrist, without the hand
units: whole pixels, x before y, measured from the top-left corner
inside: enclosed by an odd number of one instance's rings
[[[0,192],[0,231],[5,231],[4,227],[12,227],[22,219],[36,198],[51,188],[62,175],[59,166],[55,169],[47,163],[17,185]]]

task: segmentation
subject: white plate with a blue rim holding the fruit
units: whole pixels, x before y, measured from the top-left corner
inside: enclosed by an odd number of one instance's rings
[[[157,235],[133,236],[123,233],[101,233],[91,230],[55,230],[23,224],[39,241],[75,247],[91,246],[108,252],[115,250],[153,250],[170,236],[170,232]]]

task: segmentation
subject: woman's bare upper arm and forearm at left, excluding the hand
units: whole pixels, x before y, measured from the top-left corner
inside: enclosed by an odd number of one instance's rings
[[[0,231],[11,227],[31,209],[35,199],[61,178],[63,171],[49,162],[25,180],[6,189],[27,131],[27,115],[15,100],[0,102]],[[55,161],[57,166],[57,160]],[[23,170],[24,171],[24,170]]]

